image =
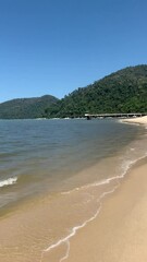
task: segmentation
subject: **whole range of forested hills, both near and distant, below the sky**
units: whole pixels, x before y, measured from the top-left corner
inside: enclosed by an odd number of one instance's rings
[[[46,95],[0,104],[1,119],[83,117],[86,112],[147,112],[147,66],[119,70],[60,100]]]

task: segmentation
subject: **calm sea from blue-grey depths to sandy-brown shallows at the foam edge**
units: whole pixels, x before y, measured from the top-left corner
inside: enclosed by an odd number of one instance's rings
[[[113,119],[1,120],[2,262],[65,260],[70,239],[147,155],[146,131]]]

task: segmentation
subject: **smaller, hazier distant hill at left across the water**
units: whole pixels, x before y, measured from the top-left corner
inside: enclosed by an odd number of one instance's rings
[[[0,119],[41,118],[45,109],[57,102],[58,98],[50,95],[4,102],[0,104]]]

